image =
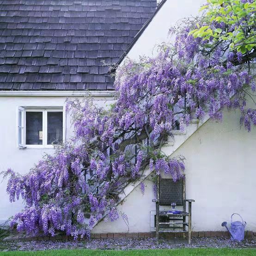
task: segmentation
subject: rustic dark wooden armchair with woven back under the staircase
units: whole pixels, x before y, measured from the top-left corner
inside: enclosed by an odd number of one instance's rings
[[[195,200],[186,199],[185,177],[175,183],[172,179],[160,178],[157,175],[157,198],[152,201],[156,202],[157,244],[159,244],[159,228],[173,229],[167,232],[183,232],[184,235],[187,232],[186,227],[188,227],[188,239],[191,244],[191,204]],[[170,211],[159,211],[159,206],[171,206],[171,202],[176,202],[177,206],[183,206],[183,211],[177,214],[172,214]],[[188,212],[186,211],[186,202],[189,202]],[[188,221],[186,221],[187,217]]]

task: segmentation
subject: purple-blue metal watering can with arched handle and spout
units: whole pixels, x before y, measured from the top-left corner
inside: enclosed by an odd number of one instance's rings
[[[241,221],[234,221],[232,222],[232,217],[233,215],[237,214],[241,219]],[[246,222],[243,220],[243,218],[241,217],[241,215],[239,215],[238,213],[233,213],[231,215],[231,227],[230,230],[227,227],[227,223],[222,222],[221,226],[225,226],[227,231],[230,233],[231,235],[231,240],[235,240],[235,241],[242,241],[244,240],[244,227],[246,225]]]

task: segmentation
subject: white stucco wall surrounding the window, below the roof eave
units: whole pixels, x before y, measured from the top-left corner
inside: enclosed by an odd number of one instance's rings
[[[71,98],[71,97],[68,97]],[[83,99],[83,97],[76,97]],[[111,96],[95,97],[97,104],[105,106],[110,104]],[[27,173],[30,168],[42,158],[45,152],[51,153],[53,149],[19,149],[16,146],[16,109],[17,106],[26,107],[60,107],[65,103],[66,97],[0,97],[0,171],[12,168],[21,174]],[[70,116],[67,115],[67,139],[72,134]],[[0,178],[2,180],[2,178]],[[0,222],[5,221],[22,207],[22,200],[9,202],[6,190],[6,180],[0,183]]]

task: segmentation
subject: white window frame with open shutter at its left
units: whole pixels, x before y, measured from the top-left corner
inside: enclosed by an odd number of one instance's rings
[[[21,112],[21,115],[19,114]],[[43,112],[43,144],[42,145],[26,145],[26,112]],[[66,112],[63,107],[54,108],[39,108],[39,107],[18,107],[17,108],[17,147],[18,148],[53,148],[54,145],[47,144],[47,114],[48,112],[62,112],[63,113],[63,123],[62,123],[62,135],[63,143],[66,140]],[[21,117],[21,122],[19,122]],[[19,126],[21,123],[21,126]],[[19,129],[21,132],[21,143],[19,143]]]

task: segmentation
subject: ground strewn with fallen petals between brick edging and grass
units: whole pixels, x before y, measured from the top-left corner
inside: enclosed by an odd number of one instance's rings
[[[247,238],[242,242],[234,242],[229,238],[193,238],[189,245],[181,238],[161,239],[157,246],[155,238],[107,238],[86,241],[31,241],[0,242],[0,251],[13,250],[50,250],[50,249],[175,249],[175,248],[256,248],[255,238]]]

